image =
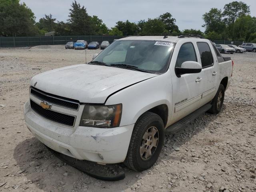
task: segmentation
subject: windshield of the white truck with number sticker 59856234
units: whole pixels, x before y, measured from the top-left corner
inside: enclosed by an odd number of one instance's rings
[[[129,65],[151,73],[166,72],[172,42],[153,40],[118,40],[102,51],[92,62]]]

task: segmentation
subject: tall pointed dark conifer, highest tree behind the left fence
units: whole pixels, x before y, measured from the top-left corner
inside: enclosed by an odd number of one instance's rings
[[[79,3],[72,2],[71,9],[69,13],[68,22],[70,24],[70,32],[73,35],[81,35],[81,34],[91,34],[92,30],[92,20],[88,15],[86,8],[84,6],[80,6]]]

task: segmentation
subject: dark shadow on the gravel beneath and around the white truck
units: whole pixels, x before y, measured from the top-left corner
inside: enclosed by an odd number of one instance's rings
[[[194,135],[204,130],[208,124],[214,122],[218,116],[224,115],[225,105],[222,112],[218,115],[202,114],[196,120],[188,124],[184,129],[175,134],[167,134],[164,147],[154,166],[161,166],[164,161],[181,161],[175,149],[186,144]],[[214,129],[213,129],[214,131]],[[207,142],[207,141],[205,141]],[[211,145],[208,141],[206,145]],[[136,183],[146,174],[152,174],[154,166],[144,172],[134,172],[125,168],[126,178],[116,182],[106,182],[98,180],[82,173],[81,171],[67,165],[54,156],[47,148],[35,137],[28,138],[19,143],[14,149],[14,159],[20,171],[13,173],[15,176],[25,177],[20,188],[39,188],[44,191],[111,191],[114,187],[116,191],[126,190]]]

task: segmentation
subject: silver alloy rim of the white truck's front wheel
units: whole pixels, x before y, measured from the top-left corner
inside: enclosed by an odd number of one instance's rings
[[[143,160],[148,160],[152,157],[152,155],[156,151],[158,140],[158,129],[154,126],[151,126],[144,133],[140,144],[140,157]]]

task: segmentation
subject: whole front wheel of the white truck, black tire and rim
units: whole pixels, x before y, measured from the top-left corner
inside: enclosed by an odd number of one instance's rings
[[[164,123],[155,113],[146,112],[134,125],[124,164],[135,171],[154,165],[164,145]]]

